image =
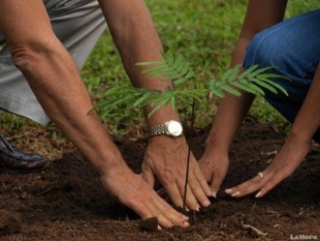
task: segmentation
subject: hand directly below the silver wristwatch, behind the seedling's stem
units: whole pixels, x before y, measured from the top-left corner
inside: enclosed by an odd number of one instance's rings
[[[168,136],[153,136],[148,144],[142,163],[142,178],[151,187],[154,175],[167,191],[169,199],[176,207],[183,207],[185,181],[187,172],[187,142],[184,137],[172,139]],[[188,209],[207,207],[212,191],[200,171],[193,154],[190,155],[189,174],[187,181],[186,206]]]

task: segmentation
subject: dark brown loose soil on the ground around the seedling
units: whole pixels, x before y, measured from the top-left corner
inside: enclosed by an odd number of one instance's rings
[[[203,152],[207,131],[197,131],[196,157]],[[283,134],[272,125],[242,125],[222,190],[263,170],[283,141]],[[139,172],[146,141],[114,138],[114,142],[133,171]],[[97,172],[72,151],[45,171],[0,175],[0,240],[320,239],[319,160],[320,148],[314,145],[306,162],[263,199],[232,199],[221,191],[211,207],[191,213],[193,227],[150,232],[143,230],[132,210],[105,193]]]

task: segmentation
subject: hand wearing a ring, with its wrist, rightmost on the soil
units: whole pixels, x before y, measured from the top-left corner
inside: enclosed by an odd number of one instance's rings
[[[249,181],[225,190],[225,192],[234,198],[241,198],[258,191],[255,197],[261,198],[277,186],[280,181],[288,178],[304,160],[309,150],[310,142],[299,142],[288,137],[279,153],[264,171],[259,172]]]

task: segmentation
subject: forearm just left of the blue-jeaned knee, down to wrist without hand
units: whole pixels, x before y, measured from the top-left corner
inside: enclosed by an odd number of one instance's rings
[[[286,5],[286,0],[251,0],[249,2],[242,31],[233,51],[231,68],[236,64],[242,64],[246,47],[256,33],[275,23],[279,23],[283,19]],[[215,115],[214,125],[206,140],[207,150],[219,148],[219,151],[228,152],[233,137],[254,99],[254,96],[250,93],[240,89],[239,91],[242,93],[241,97],[226,94],[221,99]]]

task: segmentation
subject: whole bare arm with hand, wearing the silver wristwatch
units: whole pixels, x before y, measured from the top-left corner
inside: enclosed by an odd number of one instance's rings
[[[114,42],[120,51],[123,65],[133,85],[138,88],[164,90],[171,82],[151,79],[141,74],[142,68],[135,63],[160,60],[162,50],[160,38],[151,20],[151,14],[142,0],[132,1],[99,1],[108,22]],[[151,107],[145,107],[145,116]],[[178,120],[178,114],[172,107],[162,107],[151,118],[147,125],[160,125],[169,120]],[[142,164],[142,177],[151,186],[156,175],[169,193],[172,202],[182,207],[184,180],[187,169],[187,142],[184,137],[172,139],[168,136],[153,136],[145,153]],[[212,192],[202,175],[197,161],[192,155],[188,181],[187,207],[198,209],[200,205],[208,206]]]

